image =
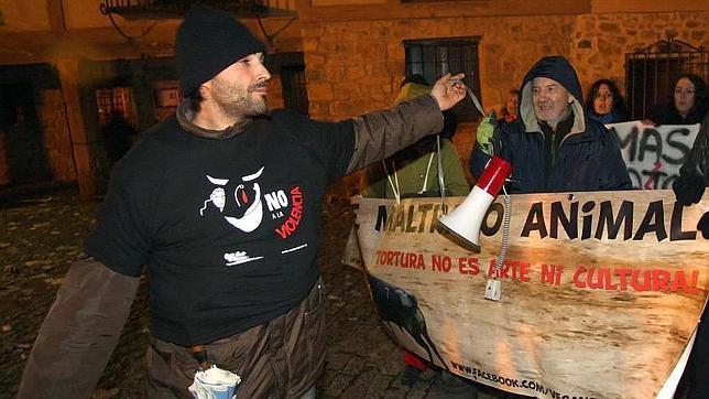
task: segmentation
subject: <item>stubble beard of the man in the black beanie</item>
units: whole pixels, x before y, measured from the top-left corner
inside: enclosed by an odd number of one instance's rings
[[[254,100],[252,98],[253,91],[263,85],[265,83],[250,85],[244,90],[240,87],[215,79],[212,84],[215,89],[212,96],[223,116],[232,121],[241,118],[268,115],[270,111],[265,97],[262,97],[261,100]]]

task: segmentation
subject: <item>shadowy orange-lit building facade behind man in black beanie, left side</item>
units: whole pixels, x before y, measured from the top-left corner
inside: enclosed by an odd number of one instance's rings
[[[116,93],[130,99],[124,114],[138,131],[174,112],[174,104],[161,104],[159,97],[177,91],[173,55],[181,15],[112,14],[113,25],[101,12],[107,3],[0,4],[0,199],[14,188],[56,183],[77,183],[86,195],[101,193],[110,163],[102,132],[106,107],[100,104],[110,103]],[[261,3],[269,7],[268,14],[243,22],[272,53],[301,52],[296,0]],[[279,73],[274,71],[271,82],[273,107],[284,106]],[[19,99],[18,93],[28,99]]]

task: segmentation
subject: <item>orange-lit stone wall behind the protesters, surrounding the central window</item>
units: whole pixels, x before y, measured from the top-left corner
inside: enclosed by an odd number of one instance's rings
[[[404,74],[406,39],[480,36],[482,101],[501,104],[544,55],[571,61],[583,88],[600,77],[625,82],[625,53],[667,39],[709,47],[709,13],[624,13],[441,18],[304,23],[314,117],[340,119],[385,107]]]

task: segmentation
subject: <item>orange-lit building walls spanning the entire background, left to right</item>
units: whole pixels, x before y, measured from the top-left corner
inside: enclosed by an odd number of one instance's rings
[[[171,109],[156,107],[151,90],[175,85],[168,65],[179,19],[118,18],[124,33],[148,32],[126,40],[100,14],[99,0],[9,3],[0,6],[0,68],[44,63],[57,71],[58,90],[51,87],[37,97],[48,163],[54,179],[78,181],[81,192],[91,194],[100,186],[96,176],[102,169],[94,91],[112,82],[132,87],[139,129],[168,115]],[[544,55],[568,57],[586,90],[601,77],[624,87],[626,54],[657,41],[675,39],[709,48],[709,3],[702,0],[268,3],[291,13],[265,18],[262,25],[252,18],[243,21],[269,43],[271,53],[301,54],[309,115],[323,120],[389,107],[405,75],[406,40],[477,37],[477,90],[488,108],[500,105]],[[284,106],[281,76],[276,73],[272,80],[271,106]],[[455,137],[466,170],[475,129],[475,121],[462,123]],[[7,149],[1,139],[0,150]],[[0,185],[10,179],[7,164],[0,151]]]

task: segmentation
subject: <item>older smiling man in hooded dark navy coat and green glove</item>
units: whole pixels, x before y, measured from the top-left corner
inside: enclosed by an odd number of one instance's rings
[[[499,145],[491,143],[490,118],[478,128],[470,172],[479,176],[500,148],[512,163],[513,193],[632,188],[613,136],[583,110],[581,85],[563,56],[539,60],[520,88],[517,119],[502,126]],[[488,125],[488,128],[486,128]],[[487,133],[486,133],[487,132]]]

